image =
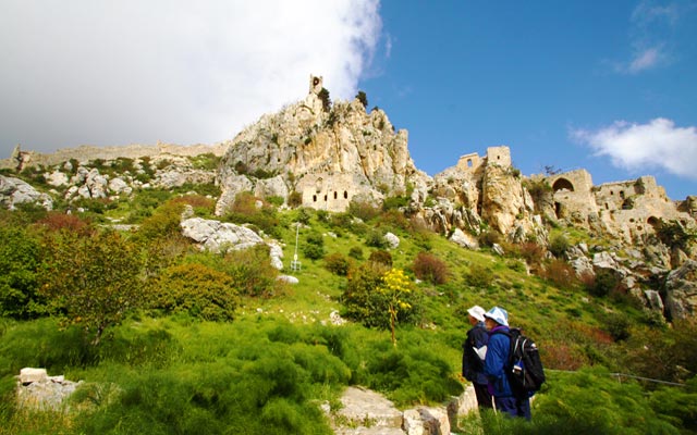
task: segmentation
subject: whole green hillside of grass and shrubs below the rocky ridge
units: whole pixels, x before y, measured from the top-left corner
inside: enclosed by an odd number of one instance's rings
[[[259,210],[241,198],[224,220],[284,245],[282,273],[299,279],[289,285],[266,266],[266,251],[211,254],[179,236],[186,204],[212,215],[211,199],[183,195],[203,188],[143,190],[85,203],[80,215],[1,212],[0,434],[331,433],[318,405],[337,409],[352,384],[402,408],[441,403],[463,390],[465,310],[475,303],[504,307],[536,338],[549,381],[531,424],[470,417],[463,433],[697,431],[695,325],[668,325],[626,295],[592,296],[540,247],[504,245],[499,257],[463,249],[395,210]],[[109,233],[113,221],[139,227]],[[290,271],[297,222],[302,269]],[[398,248],[383,246],[386,232]],[[370,271],[390,270],[386,256],[412,283],[398,295],[411,307],[398,316],[396,345],[384,298],[347,306],[350,295],[382,288]],[[332,324],[334,311],[346,323]],[[83,380],[70,412],[17,409],[13,376],[24,366]]]

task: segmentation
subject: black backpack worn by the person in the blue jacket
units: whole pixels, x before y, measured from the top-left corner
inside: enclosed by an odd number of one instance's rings
[[[513,394],[528,397],[539,390],[545,383],[545,368],[535,341],[523,335],[519,328],[512,327],[506,334],[511,337],[511,350],[505,372]]]

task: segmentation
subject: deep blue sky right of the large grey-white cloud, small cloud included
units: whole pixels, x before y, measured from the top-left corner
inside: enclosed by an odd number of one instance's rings
[[[697,2],[387,1],[380,13],[360,87],[408,129],[419,169],[508,145],[526,175],[653,175],[673,199],[697,195]]]

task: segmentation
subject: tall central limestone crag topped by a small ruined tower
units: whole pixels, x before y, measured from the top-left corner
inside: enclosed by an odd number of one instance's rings
[[[430,182],[409,157],[406,130],[387,114],[366,112],[357,99],[329,108],[321,78],[310,77],[307,97],[267,114],[228,142],[219,173],[223,214],[243,190],[299,195],[305,207],[344,211],[352,199],[379,203],[411,186],[425,194]]]

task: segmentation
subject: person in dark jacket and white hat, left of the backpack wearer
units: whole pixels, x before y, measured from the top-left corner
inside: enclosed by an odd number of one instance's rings
[[[462,344],[462,375],[474,385],[479,408],[493,408],[487,386],[488,380],[484,374],[484,358],[481,358],[487,350],[487,341],[489,341],[489,335],[484,325],[484,308],[479,306],[467,310],[472,328],[467,331],[467,339]]]

